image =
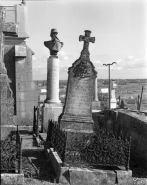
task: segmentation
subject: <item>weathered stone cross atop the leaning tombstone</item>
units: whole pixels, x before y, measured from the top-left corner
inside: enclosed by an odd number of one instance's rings
[[[80,35],[79,41],[84,41],[83,50],[81,52],[81,58],[84,58],[86,60],[89,60],[89,42],[94,43],[95,37],[90,37],[91,31],[85,30],[85,36]]]

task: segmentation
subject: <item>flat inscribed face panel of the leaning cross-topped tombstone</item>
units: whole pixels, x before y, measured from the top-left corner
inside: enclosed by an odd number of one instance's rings
[[[65,112],[67,114],[91,116],[93,79],[70,79]]]

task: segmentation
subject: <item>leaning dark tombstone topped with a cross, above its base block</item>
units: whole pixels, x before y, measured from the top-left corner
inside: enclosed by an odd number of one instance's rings
[[[89,58],[89,42],[95,42],[95,37],[90,34],[91,31],[86,30],[85,36],[80,35],[79,41],[84,41],[81,56],[68,69],[66,100],[59,118],[63,129],[93,129],[92,101],[97,72]]]

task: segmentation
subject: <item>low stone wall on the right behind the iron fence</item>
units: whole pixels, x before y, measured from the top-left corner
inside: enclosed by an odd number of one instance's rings
[[[124,138],[131,136],[131,155],[138,158],[147,168],[147,117],[125,110],[111,110],[110,118],[114,133],[122,133]],[[108,110],[104,111],[104,115],[93,113],[93,119],[95,127],[98,122],[107,127]]]

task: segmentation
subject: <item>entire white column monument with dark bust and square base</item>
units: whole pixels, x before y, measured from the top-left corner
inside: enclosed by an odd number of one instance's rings
[[[47,130],[48,120],[58,121],[62,112],[62,103],[59,100],[59,58],[57,56],[63,43],[57,38],[57,30],[51,30],[51,41],[45,41],[44,45],[50,50],[47,60],[47,96],[43,106],[43,125]]]

